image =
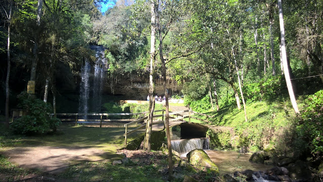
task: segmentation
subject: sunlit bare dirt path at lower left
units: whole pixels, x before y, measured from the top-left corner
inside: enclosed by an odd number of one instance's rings
[[[84,147],[15,147],[1,153],[20,167],[47,173],[59,173],[79,162],[103,161],[109,157],[107,152]]]

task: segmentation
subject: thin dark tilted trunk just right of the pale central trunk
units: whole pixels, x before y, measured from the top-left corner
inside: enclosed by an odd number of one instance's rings
[[[169,164],[169,179],[171,179],[171,175],[173,174],[173,153],[172,153],[172,143],[171,143],[171,134],[170,134],[170,114],[169,114],[169,102],[168,102],[168,93],[166,88],[167,77],[166,77],[166,65],[163,55],[163,36],[161,36],[161,27],[159,24],[159,14],[158,14],[158,5],[159,1],[157,0],[156,4],[156,23],[158,27],[158,35],[159,35],[159,57],[161,61],[161,67],[163,67],[163,86],[165,93],[165,104],[166,104],[166,116],[165,116],[165,125],[166,125],[166,136],[167,136],[167,148],[168,148],[168,164]]]

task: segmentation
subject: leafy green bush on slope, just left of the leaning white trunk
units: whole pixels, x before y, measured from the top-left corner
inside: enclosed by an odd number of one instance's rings
[[[245,83],[243,86],[243,95],[247,103],[272,101],[281,94],[281,76],[262,78],[256,82]]]

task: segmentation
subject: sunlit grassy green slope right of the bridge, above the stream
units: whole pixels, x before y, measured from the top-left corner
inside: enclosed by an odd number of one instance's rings
[[[300,109],[302,106],[300,104]],[[215,134],[214,137],[218,140],[225,141],[220,148],[224,144],[234,148],[249,146],[254,151],[266,148],[277,148],[278,146],[286,147],[288,141],[284,139],[284,136],[286,134],[288,135],[296,118],[289,100],[250,103],[246,106],[246,112],[248,122],[245,122],[243,108],[238,110],[236,106],[229,106],[221,108],[220,111],[205,113],[213,116],[212,118],[208,118],[210,126],[232,127],[235,135],[238,137],[230,142],[230,137],[228,138],[227,136],[228,133],[222,132]],[[193,116],[206,120],[205,116]],[[185,120],[188,121],[188,118]],[[205,121],[193,118],[191,118],[191,122],[207,124]]]

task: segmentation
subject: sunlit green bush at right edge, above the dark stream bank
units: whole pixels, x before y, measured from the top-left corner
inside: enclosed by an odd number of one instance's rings
[[[296,126],[300,138],[313,154],[323,154],[323,90],[308,96],[301,119]]]

